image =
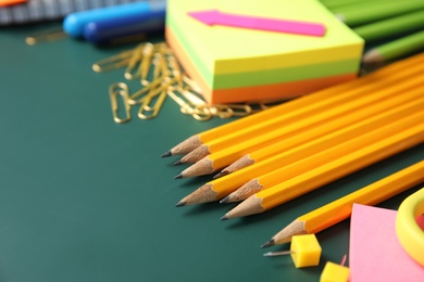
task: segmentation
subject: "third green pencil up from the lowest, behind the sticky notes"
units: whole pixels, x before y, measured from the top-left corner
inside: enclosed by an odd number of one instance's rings
[[[334,9],[333,12],[348,26],[359,26],[374,21],[379,21],[402,13],[413,12],[424,8],[424,1],[392,1],[385,4],[366,4],[356,9],[340,10]]]

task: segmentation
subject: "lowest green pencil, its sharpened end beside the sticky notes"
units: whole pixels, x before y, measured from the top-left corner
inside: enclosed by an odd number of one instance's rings
[[[424,30],[376,47],[364,54],[363,61],[366,63],[389,61],[421,50],[424,50]],[[373,51],[375,51],[376,54],[379,54],[381,59],[370,57],[369,54]]]

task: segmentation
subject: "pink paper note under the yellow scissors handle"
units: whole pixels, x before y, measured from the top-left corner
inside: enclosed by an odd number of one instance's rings
[[[424,268],[396,235],[397,210],[354,204],[350,221],[351,282],[423,282]]]

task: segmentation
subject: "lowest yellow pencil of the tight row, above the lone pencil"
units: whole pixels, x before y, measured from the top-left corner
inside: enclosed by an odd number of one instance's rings
[[[369,166],[392,154],[401,152],[424,141],[424,115],[409,118],[408,125],[397,127],[397,133],[377,141],[353,153],[296,176],[283,183],[251,195],[229,210],[222,220],[260,214],[285,202],[313,191],[340,177]],[[402,120],[404,121],[404,120]],[[401,130],[403,128],[403,130]]]

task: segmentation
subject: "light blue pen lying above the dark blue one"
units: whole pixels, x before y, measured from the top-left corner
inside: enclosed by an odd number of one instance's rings
[[[80,38],[84,35],[86,25],[89,23],[101,23],[111,20],[119,23],[130,16],[133,17],[152,12],[154,8],[160,7],[160,4],[165,7],[166,1],[142,1],[72,13],[63,21],[63,29],[70,36]]]

